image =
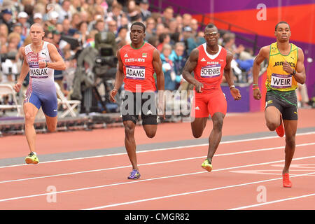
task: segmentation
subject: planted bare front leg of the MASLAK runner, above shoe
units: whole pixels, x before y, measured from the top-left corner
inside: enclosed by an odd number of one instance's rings
[[[29,151],[32,153],[35,151],[36,131],[34,121],[38,109],[31,103],[25,103],[23,109],[25,113],[25,136],[27,138],[27,144],[29,145]]]

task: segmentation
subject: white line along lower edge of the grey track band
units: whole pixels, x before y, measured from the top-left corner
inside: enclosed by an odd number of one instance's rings
[[[296,136],[304,136],[304,135],[310,135],[310,134],[315,134],[315,132],[305,132],[305,133],[299,133],[296,134]],[[238,143],[238,142],[246,142],[246,141],[258,141],[258,140],[265,140],[265,139],[276,139],[279,137],[261,137],[261,138],[254,138],[254,139],[241,139],[241,140],[233,140],[233,141],[222,141],[220,144],[233,144],[233,143]],[[209,144],[195,144],[195,145],[189,145],[189,146],[176,146],[176,147],[168,147],[168,148],[157,148],[157,149],[152,149],[152,150],[146,150],[146,151],[137,151],[138,153],[150,153],[150,152],[155,152],[155,151],[166,151],[166,150],[173,150],[173,149],[181,149],[181,148],[195,148],[195,147],[200,147],[200,146],[208,146]],[[114,156],[114,155],[127,155],[127,153],[113,153],[109,155],[94,155],[94,156],[87,156],[83,158],[71,158],[71,159],[64,159],[64,160],[51,160],[51,161],[45,161],[41,162],[41,164],[44,163],[50,163],[50,162],[65,162],[65,161],[73,161],[73,160],[85,160],[85,159],[91,159],[91,158],[102,158],[102,157],[107,157],[107,156]],[[8,166],[3,166],[1,168],[10,168],[10,167],[20,167],[20,166],[27,166],[27,164],[19,164],[19,165],[8,165]]]

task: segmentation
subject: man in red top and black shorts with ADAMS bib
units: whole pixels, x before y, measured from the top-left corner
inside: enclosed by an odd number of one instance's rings
[[[158,128],[158,111],[155,106],[155,79],[159,90],[158,106],[162,110],[164,73],[160,52],[150,43],[144,42],[146,27],[141,22],[134,22],[130,28],[131,44],[124,45],[117,52],[118,71],[113,90],[110,92],[112,102],[121,85],[125,83],[125,99],[121,106],[123,125],[125,127],[125,147],[132,163],[132,172],[128,179],[139,179],[134,128],[141,113],[142,125],[147,137],[155,137]]]

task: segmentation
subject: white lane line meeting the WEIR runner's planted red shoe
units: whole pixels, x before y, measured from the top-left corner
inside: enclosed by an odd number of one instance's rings
[[[296,176],[308,176],[311,174],[315,174],[315,172],[311,172],[311,173],[307,173],[307,174],[298,174],[298,175],[294,175],[294,176],[290,176],[290,178],[296,177]],[[209,192],[212,190],[221,190],[221,189],[227,189],[227,188],[237,188],[240,186],[248,186],[248,185],[252,185],[252,184],[256,184],[256,183],[265,183],[265,182],[269,182],[269,181],[276,181],[276,180],[281,180],[281,178],[275,178],[275,179],[267,179],[264,181],[254,181],[254,182],[249,182],[249,183],[241,183],[241,184],[236,184],[236,185],[232,185],[232,186],[224,186],[224,187],[219,187],[219,188],[209,188],[209,189],[205,189],[205,190],[197,190],[197,191],[190,191],[190,192],[186,192],[186,193],[179,193],[179,194],[174,194],[174,195],[166,195],[166,196],[162,196],[162,197],[151,197],[151,198],[146,198],[144,200],[135,200],[135,201],[131,201],[131,202],[123,202],[123,203],[117,203],[117,204],[108,204],[108,205],[104,205],[104,206],[100,206],[100,207],[93,207],[93,208],[89,208],[89,209],[83,209],[83,210],[96,210],[96,209],[106,209],[109,207],[118,207],[121,205],[127,205],[127,204],[136,204],[139,202],[148,202],[148,201],[153,201],[153,200],[160,200],[160,199],[164,199],[164,198],[169,198],[169,197],[178,197],[178,196],[183,196],[183,195],[192,195],[192,194],[197,194],[197,193],[204,193],[204,192]]]

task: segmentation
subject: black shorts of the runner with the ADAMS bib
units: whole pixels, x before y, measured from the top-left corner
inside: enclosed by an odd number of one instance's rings
[[[155,92],[125,91],[120,113],[123,116],[123,121],[131,120],[136,124],[139,114],[141,114],[142,125],[158,125]]]

